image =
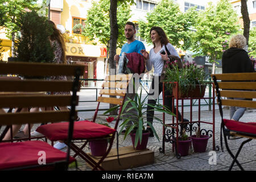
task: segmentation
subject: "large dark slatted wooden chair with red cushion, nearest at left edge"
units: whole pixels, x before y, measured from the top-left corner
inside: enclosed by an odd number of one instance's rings
[[[40,111],[35,113],[2,113],[0,125],[6,126],[0,137],[10,129],[10,125],[26,123],[69,121],[66,133],[68,146],[73,133],[73,122],[77,112],[77,91],[80,89],[79,77],[82,75],[82,65],[47,64],[47,63],[0,63],[0,75],[20,75],[30,77],[24,80],[0,80],[0,107],[51,107],[71,106],[70,111]],[[74,76],[73,81],[46,80],[49,76]],[[34,77],[34,78],[33,78]],[[35,77],[38,77],[36,79]],[[42,78],[42,79],[39,79]],[[40,92],[71,92],[71,95],[47,95]],[[1,128],[0,126],[0,128]],[[46,142],[31,140],[25,142],[0,143],[0,170],[20,169],[68,169],[68,164],[75,159],[67,153],[53,148]],[[40,156],[42,158],[40,158]],[[41,160],[42,159],[42,160]]]

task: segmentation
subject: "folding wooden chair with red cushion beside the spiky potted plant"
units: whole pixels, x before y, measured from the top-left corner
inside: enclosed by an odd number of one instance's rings
[[[102,84],[102,89],[100,90],[100,97],[98,97],[97,100],[98,105],[94,113],[93,121],[79,121],[74,123],[73,140],[70,146],[71,149],[75,151],[73,158],[79,155],[82,159],[85,160],[86,163],[93,167],[93,170],[104,170],[100,164],[109,154],[113,146],[115,133],[117,133],[119,117],[126,96],[127,86],[129,85],[132,76],[133,75],[107,76],[105,78],[105,82]],[[105,95],[105,97],[102,95]],[[108,96],[119,96],[120,98],[113,98]],[[116,107],[120,106],[114,129],[96,123],[98,109],[101,102],[117,105]],[[44,134],[48,139],[52,141],[64,140],[64,142],[67,143],[67,134],[65,133],[68,131],[68,126],[65,123],[53,123],[40,126],[36,131]],[[63,133],[63,131],[65,132]],[[99,139],[109,139],[110,142],[105,155],[103,155],[101,159],[98,160],[98,162],[95,162],[92,156],[86,154],[83,151],[83,148],[86,146],[86,144],[88,144],[89,141]],[[79,147],[76,145],[77,141],[82,141],[84,144]]]

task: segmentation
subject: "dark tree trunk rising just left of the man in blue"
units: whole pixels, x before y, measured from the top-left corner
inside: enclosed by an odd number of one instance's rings
[[[115,75],[114,56],[117,49],[118,25],[117,25],[117,0],[110,0],[110,42],[109,42],[109,75]],[[111,97],[111,96],[110,96]],[[110,104],[109,107],[114,105]],[[114,110],[110,115],[117,115],[117,110]]]

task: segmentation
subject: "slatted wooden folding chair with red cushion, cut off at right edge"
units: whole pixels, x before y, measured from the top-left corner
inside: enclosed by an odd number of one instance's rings
[[[221,149],[223,151],[223,132],[226,150],[233,158],[233,162],[230,165],[229,170],[232,169],[235,162],[241,170],[244,170],[238,162],[237,157],[245,143],[250,142],[252,139],[256,139],[256,122],[240,122],[224,119],[222,105],[256,108],[256,101],[253,101],[253,98],[256,98],[256,73],[216,74],[212,75],[212,78],[221,114]],[[234,100],[230,98],[234,98]],[[247,100],[237,100],[237,98],[246,98]],[[236,155],[233,155],[229,149],[227,140],[227,137],[229,136],[247,138],[241,143]]]

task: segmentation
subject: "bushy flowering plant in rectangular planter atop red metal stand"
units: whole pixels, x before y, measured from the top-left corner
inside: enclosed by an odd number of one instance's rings
[[[207,82],[204,81],[204,67],[197,67],[193,61],[192,63],[183,62],[183,68],[179,69],[176,60],[167,61],[165,67],[166,78],[164,82],[173,96],[178,94],[180,97],[204,97],[207,85]],[[177,82],[178,88],[174,82]]]

